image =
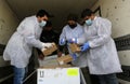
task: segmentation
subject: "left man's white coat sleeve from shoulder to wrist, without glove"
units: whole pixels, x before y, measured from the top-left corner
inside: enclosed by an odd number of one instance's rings
[[[23,36],[24,42],[27,44],[38,47],[39,50],[42,48],[42,42],[40,42],[38,39],[36,39],[35,36],[35,24],[32,20],[25,18],[18,29],[17,32]]]

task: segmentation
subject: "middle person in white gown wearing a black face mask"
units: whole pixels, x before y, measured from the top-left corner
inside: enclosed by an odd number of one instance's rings
[[[69,40],[74,37],[79,38],[83,33],[83,28],[77,23],[77,15],[69,14],[67,16],[67,25],[63,28],[60,36],[60,45],[65,45],[67,42],[67,48],[69,55],[74,57],[73,65],[77,67],[87,67],[87,56],[86,53],[73,53],[69,48]]]

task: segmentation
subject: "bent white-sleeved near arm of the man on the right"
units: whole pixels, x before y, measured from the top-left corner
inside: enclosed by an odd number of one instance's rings
[[[112,34],[112,23],[107,19],[102,19],[98,24],[98,36],[92,39],[91,41],[88,41],[90,47],[96,47],[104,45],[110,40]]]

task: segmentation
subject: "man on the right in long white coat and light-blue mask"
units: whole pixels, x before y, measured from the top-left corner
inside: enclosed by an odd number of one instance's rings
[[[110,37],[112,23],[94,16],[90,9],[83,10],[81,17],[84,20],[84,36],[78,38],[77,43],[82,44],[81,52],[89,52],[87,58],[90,73],[98,75],[101,84],[118,84],[116,73],[122,70]]]

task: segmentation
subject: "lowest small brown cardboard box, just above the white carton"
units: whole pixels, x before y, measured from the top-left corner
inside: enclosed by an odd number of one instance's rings
[[[70,55],[65,55],[57,58],[57,61],[60,65],[65,65],[67,62],[70,62],[72,60],[73,60],[73,57]]]

